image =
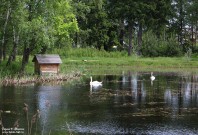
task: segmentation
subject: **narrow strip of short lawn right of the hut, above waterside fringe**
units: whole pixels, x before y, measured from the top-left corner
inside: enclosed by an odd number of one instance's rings
[[[153,67],[153,68],[196,68],[196,60],[186,61],[184,58],[134,58],[134,57],[72,57],[64,58],[63,65],[90,65],[90,66],[130,66],[130,67]]]

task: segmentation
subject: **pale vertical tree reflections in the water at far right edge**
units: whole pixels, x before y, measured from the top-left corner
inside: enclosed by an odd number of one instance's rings
[[[180,76],[177,82],[178,87],[171,87],[169,84],[164,92],[164,100],[172,108],[172,114],[182,114],[186,109],[197,107],[198,103],[198,76]]]

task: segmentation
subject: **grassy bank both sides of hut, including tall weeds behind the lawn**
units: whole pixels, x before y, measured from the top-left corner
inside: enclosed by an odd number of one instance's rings
[[[191,57],[154,57],[145,58],[138,57],[137,55],[127,56],[126,52],[105,52],[104,50],[98,51],[96,49],[67,49],[54,50],[50,52],[59,54],[62,59],[61,73],[58,78],[65,80],[67,75],[71,73],[92,74],[100,70],[107,72],[116,72],[116,70],[198,70],[198,56],[192,55]],[[55,80],[57,77],[47,77],[46,79],[39,78],[34,75],[34,63],[31,62],[33,56],[30,57],[30,62],[26,66],[25,75],[20,76],[19,69],[21,65],[21,56],[18,56],[17,61],[13,62],[11,66],[6,67],[6,62],[0,65],[0,82],[1,83],[26,83],[36,81],[49,81]],[[94,71],[93,71],[94,70]],[[74,75],[75,76],[75,75]],[[43,80],[42,80],[43,79]],[[58,80],[58,79],[57,79]]]

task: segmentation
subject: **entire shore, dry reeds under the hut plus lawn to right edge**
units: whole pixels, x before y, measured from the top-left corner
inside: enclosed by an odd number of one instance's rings
[[[20,76],[15,72],[18,69],[7,68],[3,64],[0,70],[0,85],[23,85],[29,83],[45,83],[56,81],[72,80],[82,74],[109,74],[121,70],[152,71],[152,72],[196,72],[198,73],[197,58],[190,61],[184,57],[62,57],[63,63],[60,66],[58,75],[33,75],[34,64],[29,62],[26,67],[26,75]],[[19,61],[13,63],[19,65]],[[5,72],[6,71],[6,72]]]

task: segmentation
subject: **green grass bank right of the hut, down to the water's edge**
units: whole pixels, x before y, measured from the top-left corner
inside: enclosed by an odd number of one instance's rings
[[[153,72],[198,72],[197,59],[177,58],[98,58],[72,57],[63,59],[61,71],[76,68],[87,75],[120,74],[120,71],[153,71]]]

